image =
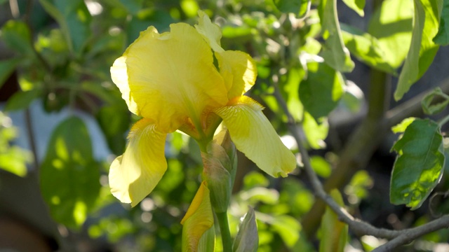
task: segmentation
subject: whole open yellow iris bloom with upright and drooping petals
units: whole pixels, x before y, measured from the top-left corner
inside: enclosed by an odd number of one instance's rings
[[[204,147],[225,123],[239,151],[272,176],[287,176],[296,160],[262,113],[243,94],[256,67],[244,52],[224,50],[220,27],[199,12],[199,25],[170,25],[140,33],[111,67],[128,109],[143,119],[128,136],[125,153],[112,162],[109,185],[121,202],[135,206],[166,172],[166,135],[180,130]],[[214,64],[214,56],[217,65]]]

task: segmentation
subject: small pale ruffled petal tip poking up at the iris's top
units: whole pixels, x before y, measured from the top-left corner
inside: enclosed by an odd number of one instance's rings
[[[220,45],[220,39],[222,38],[222,30],[218,25],[210,21],[210,18],[202,10],[198,10],[199,20],[198,25],[195,25],[196,31],[203,36],[203,38],[209,43],[212,50],[215,52],[224,52]]]

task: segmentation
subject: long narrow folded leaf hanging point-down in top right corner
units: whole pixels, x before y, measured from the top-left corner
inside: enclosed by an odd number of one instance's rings
[[[413,36],[406,63],[399,75],[394,99],[400,100],[434,61],[439,45],[432,39],[438,33],[443,0],[415,0]]]

